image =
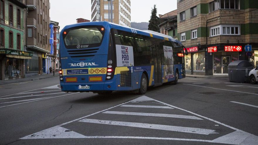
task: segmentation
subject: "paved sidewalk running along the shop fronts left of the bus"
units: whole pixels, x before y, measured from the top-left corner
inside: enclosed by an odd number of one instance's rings
[[[47,79],[47,78],[52,78],[52,77],[57,77],[57,76],[59,76],[58,73],[55,73],[55,76],[53,76],[53,74],[43,74],[43,75],[31,76],[31,77],[22,78],[22,79],[0,81],[0,85],[4,85],[4,84],[8,84],[8,83],[19,83],[19,82],[24,82],[24,81],[41,80],[41,79]]]

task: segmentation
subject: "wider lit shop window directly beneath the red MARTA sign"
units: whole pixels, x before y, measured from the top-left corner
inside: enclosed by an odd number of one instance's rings
[[[193,54],[193,70],[205,71],[205,52],[197,52]]]

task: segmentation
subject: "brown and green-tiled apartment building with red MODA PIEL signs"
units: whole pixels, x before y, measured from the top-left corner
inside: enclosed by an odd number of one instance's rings
[[[257,28],[256,0],[177,0],[177,35],[189,52],[187,74],[228,74],[235,60],[257,66]]]

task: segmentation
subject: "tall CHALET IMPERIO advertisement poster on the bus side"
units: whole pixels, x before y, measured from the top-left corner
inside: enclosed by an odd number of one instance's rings
[[[164,49],[164,76],[165,79],[170,79],[174,77],[174,72],[173,72],[173,64],[174,64],[174,59],[173,59],[173,50],[171,46],[163,46]]]

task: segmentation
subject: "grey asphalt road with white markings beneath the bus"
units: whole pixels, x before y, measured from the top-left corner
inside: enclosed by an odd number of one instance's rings
[[[0,144],[258,144],[258,85],[185,78],[145,95],[0,85]]]

